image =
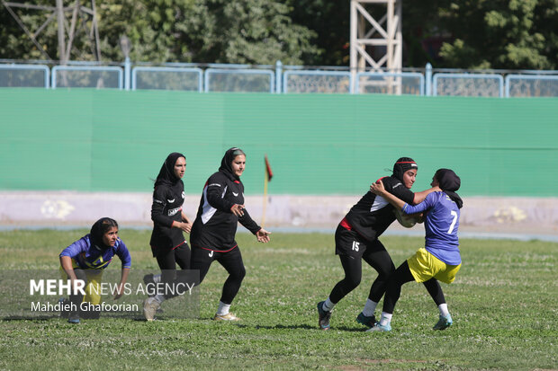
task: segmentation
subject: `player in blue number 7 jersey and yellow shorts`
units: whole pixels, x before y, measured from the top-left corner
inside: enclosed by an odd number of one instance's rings
[[[428,294],[440,311],[434,330],[445,330],[453,323],[438,281],[452,283],[461,268],[457,230],[463,200],[455,193],[459,190],[461,180],[452,170],[439,169],[434,174],[431,185],[439,187],[440,191],[430,193],[417,206],[411,206],[387,192],[382,182],[370,186],[372,192],[389,200],[405,214],[426,214],[426,243],[424,248],[420,248],[415,255],[403,262],[389,279],[383,298],[382,318],[368,331],[392,331],[392,314],[401,295],[401,286],[412,280],[422,282],[427,287]]]

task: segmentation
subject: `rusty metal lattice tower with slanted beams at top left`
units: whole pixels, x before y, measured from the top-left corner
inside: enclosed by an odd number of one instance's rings
[[[45,48],[43,48],[37,40],[37,37],[40,35],[40,32],[54,20],[58,23],[58,59],[60,65],[65,65],[67,61],[70,60],[70,54],[72,52],[80,52],[76,50],[76,47],[73,45],[76,35],[80,32],[85,33],[87,36],[91,53],[95,59],[97,61],[101,60],[101,45],[94,0],[91,0],[90,8],[82,5],[79,0],[76,0],[74,4],[69,6],[64,6],[63,0],[56,0],[55,6],[14,3],[4,0],[2,0],[2,4],[47,60],[53,60],[53,58],[49,56]],[[14,8],[23,8],[31,11],[46,11],[49,12],[49,16],[37,30],[31,31],[14,12]],[[91,20],[91,27],[86,25],[89,20]]]

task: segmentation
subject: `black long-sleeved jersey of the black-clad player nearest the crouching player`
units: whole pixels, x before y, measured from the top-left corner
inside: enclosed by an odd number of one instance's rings
[[[153,233],[149,244],[154,253],[157,249],[174,249],[184,243],[184,234],[179,228],[173,228],[173,222],[182,222],[182,204],[184,203],[184,183],[160,184],[153,190],[151,220]]]

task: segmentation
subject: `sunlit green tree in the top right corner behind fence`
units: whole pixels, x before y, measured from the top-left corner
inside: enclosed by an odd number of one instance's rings
[[[556,0],[455,0],[441,21],[455,36],[440,50],[443,66],[554,69]]]

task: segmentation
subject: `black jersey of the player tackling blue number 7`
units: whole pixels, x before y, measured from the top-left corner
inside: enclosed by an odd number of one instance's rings
[[[381,178],[384,188],[403,201],[413,204],[415,194],[409,190],[397,178],[392,176]],[[341,225],[347,229],[354,229],[367,241],[374,241],[395,220],[392,205],[381,196],[376,196],[368,191],[347,216],[341,221]]]

